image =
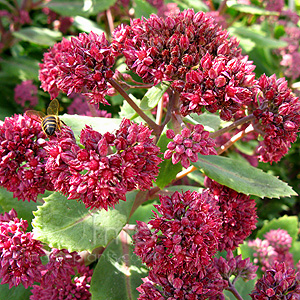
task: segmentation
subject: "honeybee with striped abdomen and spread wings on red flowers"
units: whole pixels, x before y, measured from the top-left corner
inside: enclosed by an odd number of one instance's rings
[[[47,108],[47,115],[41,111],[36,110],[27,110],[26,115],[31,119],[40,122],[42,130],[47,135],[47,137],[54,134],[56,129],[60,131],[61,124],[66,125],[58,117],[59,111],[59,102],[57,99],[54,99],[50,102],[49,107]]]

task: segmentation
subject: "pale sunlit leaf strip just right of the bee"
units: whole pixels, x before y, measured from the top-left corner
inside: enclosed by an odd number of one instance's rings
[[[121,119],[114,118],[98,118],[79,115],[67,115],[59,116],[74,132],[74,136],[77,138],[85,125],[91,126],[94,130],[104,134],[106,132],[113,132],[119,129]]]

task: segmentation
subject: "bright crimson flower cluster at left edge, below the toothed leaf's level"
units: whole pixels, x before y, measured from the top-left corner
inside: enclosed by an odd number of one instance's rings
[[[45,252],[41,242],[25,232],[27,227],[27,221],[18,219],[14,209],[0,215],[0,278],[9,288],[20,283],[28,288],[40,278]]]

